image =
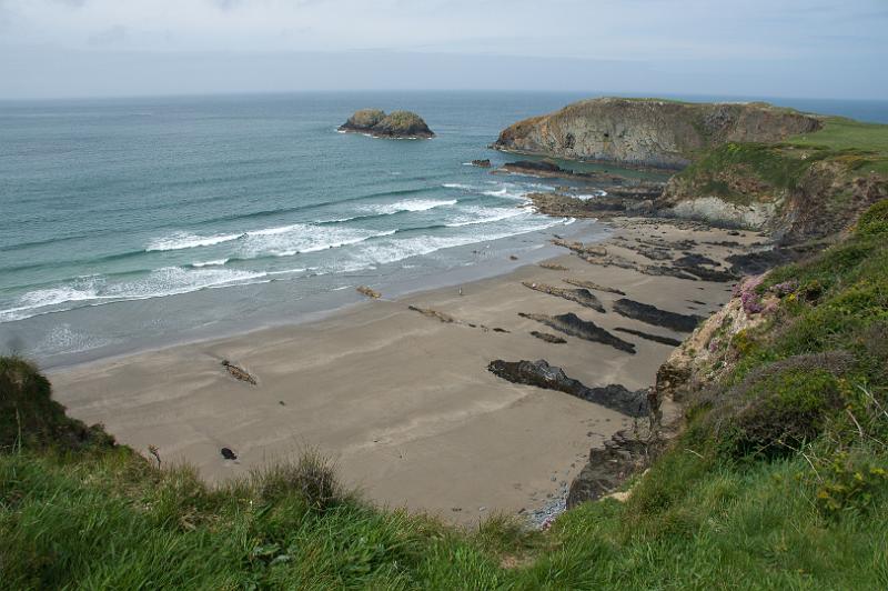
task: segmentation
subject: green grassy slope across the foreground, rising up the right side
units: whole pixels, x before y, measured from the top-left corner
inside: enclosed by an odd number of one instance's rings
[[[888,200],[761,282],[768,320],[722,345],[729,369],[625,504],[463,533],[367,507],[316,458],[211,490],[125,448],[36,441],[0,452],[0,585],[888,588],[887,238]],[[21,414],[48,394],[29,383],[0,379]]]

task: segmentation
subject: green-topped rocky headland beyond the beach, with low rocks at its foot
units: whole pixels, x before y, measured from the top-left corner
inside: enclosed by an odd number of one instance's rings
[[[599,199],[565,190],[531,196],[544,213],[692,219],[766,231],[784,244],[836,234],[888,197],[885,126],[760,102],[586,100],[506,128],[493,148],[672,173],[664,182],[639,182],[547,161],[505,164],[503,172],[606,191]]]

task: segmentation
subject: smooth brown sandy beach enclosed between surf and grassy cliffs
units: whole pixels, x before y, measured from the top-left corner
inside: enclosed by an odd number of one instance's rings
[[[655,261],[627,248],[639,241],[693,239],[695,253],[720,261],[734,251],[727,243],[761,240],[666,221],[617,220],[613,227],[601,244],[642,264]],[[545,359],[588,387],[633,390],[653,383],[673,347],[615,332],[635,344],[629,354],[518,313],[574,312],[608,331],[685,334],[617,314],[610,303],[620,296],[596,291],[607,310],[601,313],[523,282],[569,288],[564,279],[594,281],[632,300],[700,315],[730,292],[729,283],[644,274],[564,252],[549,263],[567,270],[528,264],[464,284],[462,294],[455,286],[395,301],[383,293],[312,323],[56,370],[54,395],[73,417],[103,423],[137,450],[157,445],[165,462],[188,461],[211,481],[311,445],[336,460],[344,482],[380,504],[463,524],[495,511],[533,511],[563,495],[589,448],[632,419],[562,392],[511,383],[487,364]],[[567,342],[545,342],[531,331]],[[256,383],[234,379],[223,360]],[[223,447],[238,459],[223,459]]]

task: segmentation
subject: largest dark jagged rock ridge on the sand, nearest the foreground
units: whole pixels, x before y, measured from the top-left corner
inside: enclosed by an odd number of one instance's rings
[[[630,391],[618,384],[604,388],[588,388],[578,380],[568,378],[564,370],[549,365],[545,360],[538,361],[492,361],[487,369],[513,383],[524,383],[558,390],[589,402],[619,411],[629,417],[646,417],[648,414],[647,391]]]

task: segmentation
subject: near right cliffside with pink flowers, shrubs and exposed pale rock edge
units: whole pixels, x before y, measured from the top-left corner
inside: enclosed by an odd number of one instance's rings
[[[783,480],[750,480],[750,471],[773,472],[775,460],[795,465],[786,492],[813,499],[814,519],[881,502],[888,200],[846,230],[826,250],[737,282],[658,369],[649,422],[592,449],[568,508],[612,497],[645,519],[668,514],[672,503],[689,511],[688,491],[712,478],[777,494]],[[682,412],[663,421],[663,404]],[[617,492],[642,471],[629,492]]]

